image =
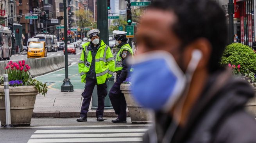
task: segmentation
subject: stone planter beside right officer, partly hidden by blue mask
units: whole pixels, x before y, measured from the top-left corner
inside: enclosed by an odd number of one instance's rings
[[[131,95],[130,84],[121,84],[122,93],[124,93],[125,101],[129,110],[132,123],[134,124],[146,124],[150,121],[150,115],[143,106],[136,103]]]

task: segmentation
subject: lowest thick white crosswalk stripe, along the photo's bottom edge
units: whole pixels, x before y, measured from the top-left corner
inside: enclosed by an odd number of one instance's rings
[[[142,138],[65,138],[65,139],[31,139],[28,143],[77,143],[77,142],[123,142],[142,141]]]

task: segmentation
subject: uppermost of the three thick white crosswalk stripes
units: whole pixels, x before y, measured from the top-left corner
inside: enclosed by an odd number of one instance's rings
[[[37,130],[35,133],[116,133],[116,132],[145,132],[148,129],[70,129],[70,130]]]

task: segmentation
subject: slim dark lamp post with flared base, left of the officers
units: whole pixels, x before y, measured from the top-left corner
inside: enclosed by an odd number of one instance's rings
[[[64,48],[65,48],[65,79],[61,85],[61,91],[74,91],[73,85],[68,78],[68,33],[67,33],[67,2],[63,0],[64,6]]]

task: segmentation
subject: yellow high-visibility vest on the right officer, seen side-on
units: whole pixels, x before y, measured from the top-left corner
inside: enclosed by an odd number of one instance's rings
[[[122,65],[122,52],[124,50],[129,51],[132,56],[133,56],[133,52],[132,52],[132,48],[129,44],[125,44],[123,45],[120,50],[118,51],[117,55],[116,55],[116,69],[115,72],[120,71],[123,69],[123,65]]]

